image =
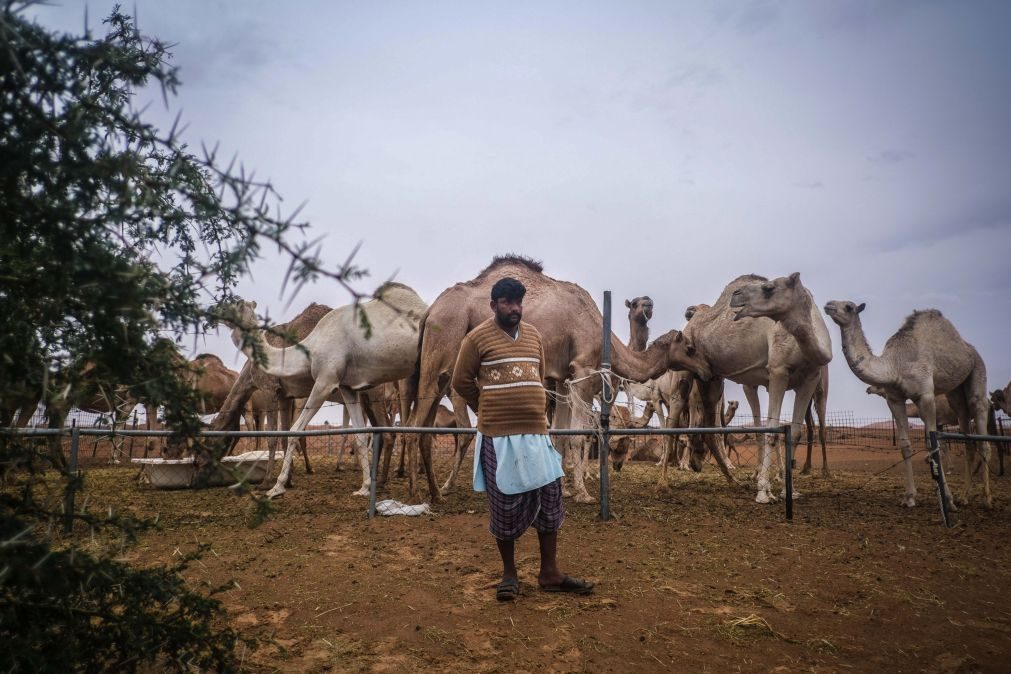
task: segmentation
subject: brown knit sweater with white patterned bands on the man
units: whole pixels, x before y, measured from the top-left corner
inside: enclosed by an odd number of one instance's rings
[[[477,429],[485,436],[546,434],[543,379],[537,328],[521,321],[514,341],[491,317],[463,339],[453,388],[477,411]]]

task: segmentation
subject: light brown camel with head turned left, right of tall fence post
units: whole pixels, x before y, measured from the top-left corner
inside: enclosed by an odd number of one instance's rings
[[[739,310],[734,313],[732,307]],[[774,281],[755,275],[738,277],[724,288],[711,308],[695,313],[684,332],[706,355],[713,370],[712,380],[696,382],[703,398],[703,425],[716,422],[723,381],[730,379],[745,387],[756,424],[761,422],[757,395],[749,395],[747,387],[752,392],[758,386],[768,389],[768,416],[772,419],[779,418],[784,395],[793,389],[791,432],[794,439],[800,438],[821,368],[832,359],[828,328],[814,298],[801,283],[800,274]],[[771,493],[769,470],[778,444],[776,436],[771,434],[766,434],[763,440],[755,501],[770,503],[775,497]],[[707,436],[705,441],[719,457],[715,439]],[[693,438],[694,470],[702,470],[704,456],[702,440]],[[721,463],[721,468],[732,481],[725,464]]]

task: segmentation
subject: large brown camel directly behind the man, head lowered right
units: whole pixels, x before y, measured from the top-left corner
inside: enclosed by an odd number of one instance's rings
[[[476,278],[448,288],[432,303],[421,325],[417,403],[412,406],[411,425],[431,426],[434,422],[436,404],[448,390],[460,343],[467,332],[489,317],[491,286],[503,277],[513,277],[526,286],[523,317],[541,332],[544,341],[545,384],[549,396],[554,395],[557,400],[552,427],[588,427],[590,403],[602,386],[599,368],[604,318],[585,290],[545,275],[540,263],[519,256],[496,257]],[[625,379],[644,382],[670,368],[692,370],[702,378],[709,378],[702,355],[677,330],[659,336],[641,353],[633,352],[614,335],[611,343],[612,369]],[[455,411],[458,424],[469,426],[466,409]],[[568,440],[560,440],[558,445],[574,464],[571,487],[575,498],[583,503],[593,502],[595,499],[586,491],[583,479],[586,445],[578,439],[575,443]],[[412,439],[413,442],[418,440]],[[465,452],[465,445],[462,449],[457,445],[444,492],[452,488]]]

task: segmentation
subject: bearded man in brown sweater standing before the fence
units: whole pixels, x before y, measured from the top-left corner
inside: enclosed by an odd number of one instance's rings
[[[495,589],[500,601],[520,594],[514,549],[530,526],[540,543],[541,589],[593,591],[592,583],[563,574],[555,558],[565,512],[564,473],[548,438],[541,334],[522,321],[526,293],[516,279],[499,279],[492,286],[494,315],[464,338],[453,372],[453,388],[477,412],[474,490],[488,494],[488,528],[502,558],[502,580]]]

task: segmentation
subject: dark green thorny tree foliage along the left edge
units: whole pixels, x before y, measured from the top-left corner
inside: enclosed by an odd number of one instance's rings
[[[111,382],[192,437],[176,344],[215,322],[262,246],[290,256],[296,288],[328,275],[350,290],[362,272],[326,271],[311,244],[290,243],[303,224],[269,183],[146,121],[136,97],[160,89],[168,103],[179,85],[165,43],[118,8],[95,36],[56,33],[26,7],[0,0],[0,401],[69,409]],[[59,459],[0,432],[0,463],[27,468],[0,490],[0,668],[228,669],[237,635],[178,569],[48,539],[60,513],[39,476]]]

